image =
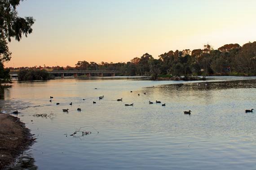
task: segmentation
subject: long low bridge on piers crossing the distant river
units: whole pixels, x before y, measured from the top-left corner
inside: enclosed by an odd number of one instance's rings
[[[11,78],[16,78],[18,76],[19,71],[11,71],[10,76]],[[115,76],[115,74],[120,73],[117,70],[52,70],[47,71],[50,74],[60,74],[62,78],[64,78],[65,74],[73,74],[74,77],[78,75],[86,75],[90,77],[92,74],[97,76],[103,76],[103,74],[110,74],[110,76]]]

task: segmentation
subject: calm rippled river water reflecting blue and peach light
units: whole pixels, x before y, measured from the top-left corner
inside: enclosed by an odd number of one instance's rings
[[[255,170],[256,112],[244,110],[256,109],[256,78],[246,79],[212,77],[207,86],[118,79],[14,82],[0,100],[2,110],[18,109],[37,138],[14,169]],[[148,103],[156,100],[166,106]],[[32,116],[43,113],[54,115]],[[79,127],[92,134],[70,136]]]

